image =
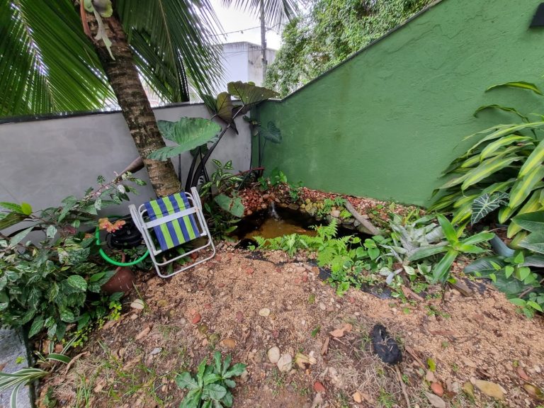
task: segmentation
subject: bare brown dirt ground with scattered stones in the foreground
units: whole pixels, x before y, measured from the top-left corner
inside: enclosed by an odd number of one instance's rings
[[[338,297],[317,272],[283,253],[220,244],[215,259],[173,278],[140,273],[120,319],[94,331],[69,371],[38,394],[52,387],[62,407],[178,407],[176,373],[194,373],[217,349],[247,364],[237,408],[406,407],[406,398],[419,408],[538,407],[523,385],[544,387],[543,317],[526,319],[490,287],[404,305],[353,289]],[[138,298],[142,310],[130,307]],[[376,323],[402,345],[398,373],[371,351]],[[342,327],[342,336],[329,334]],[[273,346],[292,368],[269,361]],[[504,399],[472,387],[482,380]],[[440,401],[429,400],[432,382]]]

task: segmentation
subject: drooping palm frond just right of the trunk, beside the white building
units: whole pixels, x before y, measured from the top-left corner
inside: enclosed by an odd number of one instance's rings
[[[221,74],[219,27],[208,0],[118,0],[135,63],[164,101],[188,101],[188,89],[212,93]]]

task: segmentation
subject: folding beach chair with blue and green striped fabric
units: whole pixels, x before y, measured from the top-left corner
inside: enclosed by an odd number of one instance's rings
[[[215,246],[212,242],[210,230],[204,220],[202,212],[202,203],[196,188],[191,188],[191,193],[176,193],[168,197],[158,198],[140,205],[136,208],[134,204],[128,206],[132,220],[144,237],[149,256],[153,261],[157,273],[162,278],[169,278],[181,271],[198,265],[212,259],[215,256]],[[153,232],[153,235],[151,234]],[[199,237],[208,237],[208,241],[203,246],[191,249],[184,254],[174,256],[165,261],[158,261],[157,256],[190,242]],[[159,248],[154,244],[154,239],[159,243]],[[200,251],[200,249],[211,246],[212,254],[208,258],[198,262],[182,266],[179,270],[164,275],[160,271],[161,266],[178,261],[185,256]]]

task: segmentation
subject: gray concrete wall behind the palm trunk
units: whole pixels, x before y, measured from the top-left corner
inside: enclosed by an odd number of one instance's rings
[[[181,116],[210,118],[203,104],[187,103],[154,112],[157,119],[163,120],[178,120]],[[221,162],[232,159],[234,169],[242,171],[249,169],[251,135],[242,118],[237,120],[237,128],[239,134],[229,130],[212,158]],[[123,171],[137,156],[123,115],[118,112],[3,123],[0,124],[0,201],[25,201],[34,210],[57,206],[62,198],[82,196],[86,188],[96,186],[98,175],[113,179],[115,171]],[[190,165],[191,154],[183,154],[183,183]],[[209,171],[213,168],[210,161]],[[145,170],[136,175],[149,183]],[[154,198],[151,186],[139,190],[140,195],[132,203]],[[124,210],[115,206],[110,213]]]

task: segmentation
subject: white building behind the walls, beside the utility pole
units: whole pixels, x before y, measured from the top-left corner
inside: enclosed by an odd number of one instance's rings
[[[261,45],[251,42],[228,42],[222,44],[225,72],[220,85],[217,86],[217,93],[227,91],[227,84],[232,81],[254,82],[262,86],[263,61],[261,59]],[[266,60],[268,65],[274,62],[276,50],[266,49]]]

